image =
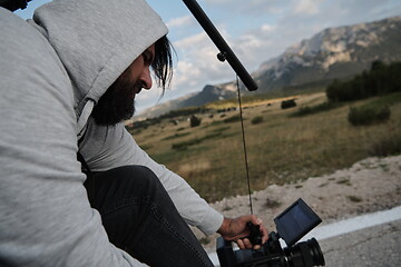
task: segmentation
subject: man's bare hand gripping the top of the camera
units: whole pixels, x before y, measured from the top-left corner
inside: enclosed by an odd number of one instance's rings
[[[262,219],[257,218],[255,215],[245,215],[235,219],[224,218],[223,224],[217,233],[221,234],[225,240],[235,241],[241,249],[258,249],[261,247],[260,245],[253,245],[248,238],[245,238],[251,234],[250,229],[246,227],[247,222],[258,225],[262,236],[262,244],[267,241],[267,229],[263,226]]]

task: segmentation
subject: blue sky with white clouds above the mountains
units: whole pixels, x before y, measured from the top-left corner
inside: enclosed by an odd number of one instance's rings
[[[31,18],[48,0],[32,0],[17,13]],[[176,57],[174,78],[162,97],[156,87],[136,98],[137,112],[200,91],[206,85],[235,80],[227,62],[182,0],[147,0],[169,29]],[[326,28],[401,16],[400,0],[197,0],[239,61],[253,72],[292,44]]]

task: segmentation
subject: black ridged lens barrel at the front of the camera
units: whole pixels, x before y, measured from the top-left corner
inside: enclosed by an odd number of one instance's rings
[[[324,257],[315,238],[297,243],[293,247],[284,249],[287,264],[291,267],[324,266]]]

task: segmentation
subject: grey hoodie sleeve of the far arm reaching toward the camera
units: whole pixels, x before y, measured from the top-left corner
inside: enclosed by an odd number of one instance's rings
[[[223,215],[213,209],[182,177],[155,162],[134,140],[123,123],[97,126],[89,120],[80,152],[94,171],[105,171],[126,165],[143,165],[151,169],[166,188],[179,214],[205,235],[217,231]]]

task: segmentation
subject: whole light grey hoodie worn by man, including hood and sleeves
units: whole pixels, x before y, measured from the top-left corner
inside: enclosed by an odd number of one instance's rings
[[[144,165],[206,235],[223,216],[153,161],[94,105],[167,29],[143,0],[59,0],[27,23],[0,9],[0,266],[140,266],[113,246],[82,186],[94,170]],[[84,141],[77,141],[86,130]]]

